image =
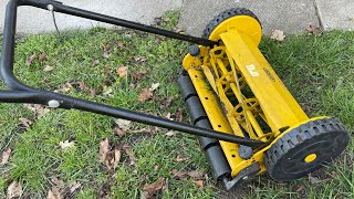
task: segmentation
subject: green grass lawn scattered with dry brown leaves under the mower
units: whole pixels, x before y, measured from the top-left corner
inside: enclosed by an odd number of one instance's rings
[[[169,12],[160,27],[174,30],[177,21]],[[187,48],[122,29],[62,32],[61,40],[27,35],[17,40],[14,71],[34,87],[188,123],[176,84]],[[283,42],[264,36],[260,49],[310,116],[339,117],[353,133],[354,32],[302,33]],[[353,142],[309,178],[275,184],[262,175],[225,192],[194,136],[79,111],[3,103],[0,109],[0,151],[12,150],[0,165],[1,198],[13,181],[23,198],[45,198],[50,190],[69,198],[139,198],[148,185],[157,198],[354,197]],[[110,163],[100,159],[107,144]]]

